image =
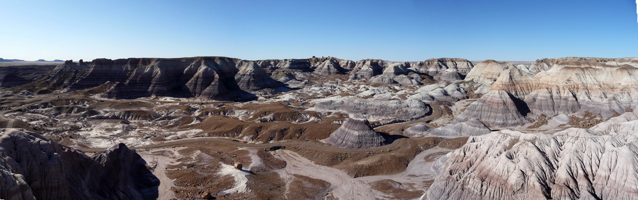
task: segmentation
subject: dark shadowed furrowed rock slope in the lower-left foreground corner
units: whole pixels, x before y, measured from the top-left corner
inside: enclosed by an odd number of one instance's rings
[[[87,157],[33,132],[0,130],[1,199],[155,199],[159,180],[119,144]]]

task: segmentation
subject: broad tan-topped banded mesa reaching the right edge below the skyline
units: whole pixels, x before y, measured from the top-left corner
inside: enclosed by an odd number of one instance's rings
[[[589,112],[589,115],[609,118],[638,105],[635,101],[638,68],[622,64],[633,61],[631,58],[542,59],[530,65],[527,71],[519,65],[500,72],[493,84],[484,77],[473,80],[487,80],[480,84],[483,88],[477,89],[480,92],[491,84],[489,90],[505,90],[523,99],[533,114],[554,116],[577,112],[583,116]],[[477,65],[475,70],[479,68]]]

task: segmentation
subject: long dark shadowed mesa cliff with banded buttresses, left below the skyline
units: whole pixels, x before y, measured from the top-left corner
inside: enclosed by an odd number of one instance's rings
[[[59,65],[43,81],[50,88],[67,91],[112,82],[114,85],[103,93],[107,98],[180,95],[226,100],[281,89],[281,84],[260,66],[275,63],[282,68],[309,67],[297,60],[257,63],[223,57],[95,59],[91,63]]]

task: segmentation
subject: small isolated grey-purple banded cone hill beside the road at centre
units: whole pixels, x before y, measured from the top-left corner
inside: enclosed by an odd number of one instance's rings
[[[376,148],[392,141],[378,133],[361,114],[354,114],[341,127],[330,134],[326,142],[332,146],[346,149]]]

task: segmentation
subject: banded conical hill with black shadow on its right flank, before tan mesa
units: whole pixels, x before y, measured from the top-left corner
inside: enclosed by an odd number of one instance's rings
[[[507,91],[493,90],[471,103],[454,122],[477,119],[489,127],[510,127],[528,123],[527,105]]]

